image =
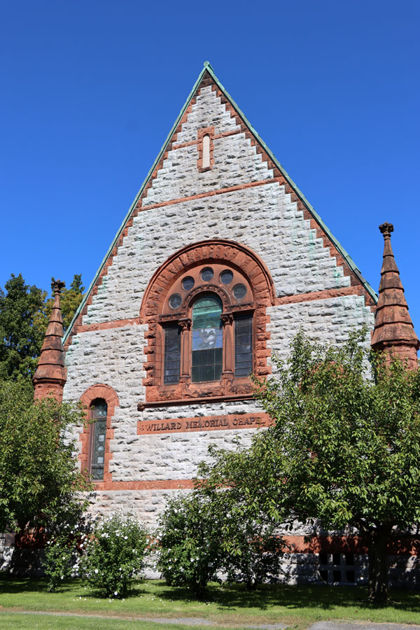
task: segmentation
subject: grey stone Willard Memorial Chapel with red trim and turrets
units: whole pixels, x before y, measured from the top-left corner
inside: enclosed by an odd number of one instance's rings
[[[153,525],[209,444],[247,444],[269,422],[249,374],[271,374],[300,328],[339,344],[366,324],[415,366],[392,230],[378,302],[206,62],[63,340],[55,286],[35,397],[90,409],[74,435],[92,510]],[[305,534],[290,537],[291,580],[365,579],[357,542],[321,532],[308,554]]]

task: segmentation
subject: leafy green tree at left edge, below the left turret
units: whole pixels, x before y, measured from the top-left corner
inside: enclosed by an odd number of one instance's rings
[[[65,431],[83,421],[79,405],[34,403],[28,381],[0,383],[0,531],[78,519],[78,493],[90,484]]]

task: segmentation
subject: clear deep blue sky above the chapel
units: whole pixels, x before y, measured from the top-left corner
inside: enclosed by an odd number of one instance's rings
[[[0,286],[92,280],[208,59],[377,290],[393,248],[420,335],[420,3],[0,2]]]

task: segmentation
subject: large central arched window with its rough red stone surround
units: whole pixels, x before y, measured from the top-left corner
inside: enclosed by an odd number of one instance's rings
[[[204,241],[169,258],[141,307],[146,403],[251,394],[249,374],[270,371],[266,307],[273,300],[265,265],[233,241]]]

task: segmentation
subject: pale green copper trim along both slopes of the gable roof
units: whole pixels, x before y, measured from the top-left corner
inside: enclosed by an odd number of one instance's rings
[[[267,147],[267,145],[265,144],[265,142],[260,138],[260,136],[258,135],[258,132],[255,131],[255,129],[253,128],[253,126],[251,125],[251,123],[249,122],[248,118],[246,118],[245,114],[243,113],[243,111],[241,111],[240,107],[237,105],[237,103],[235,102],[234,99],[232,99],[232,97],[230,96],[228,90],[225,89],[225,87],[221,84],[221,82],[218,80],[218,78],[216,77],[215,73],[214,73],[214,69],[212,68],[211,64],[209,62],[204,62],[204,67],[202,69],[202,71],[200,72],[200,75],[198,76],[197,80],[195,81],[193,90],[191,90],[188,99],[186,100],[185,104],[183,105],[183,108],[181,109],[181,111],[179,112],[179,116],[176,118],[174,125],[172,126],[171,131],[169,132],[169,134],[167,135],[167,139],[165,140],[164,144],[162,145],[162,148],[160,149],[160,152],[158,153],[158,157],[155,159],[155,161],[153,162],[153,165],[151,167],[151,169],[149,170],[146,179],[144,180],[144,182],[141,184],[141,188],[139,190],[139,192],[137,193],[136,197],[134,197],[134,201],[132,202],[129,211],[127,212],[123,223],[120,226],[120,229],[118,230],[116,237],[113,239],[111,246],[109,247],[109,250],[106,252],[106,255],[104,257],[104,260],[102,260],[101,265],[99,266],[99,269],[97,270],[96,274],[94,275],[94,279],[92,280],[92,282],[90,283],[89,287],[87,288],[87,291],[85,293],[85,297],[83,297],[82,302],[80,302],[80,305],[78,307],[78,309],[76,310],[76,313],[73,316],[73,319],[71,320],[71,324],[69,325],[69,328],[67,328],[64,337],[63,337],[63,344],[66,342],[67,337],[69,337],[71,329],[73,328],[74,323],[76,322],[76,319],[78,318],[79,314],[81,313],[81,311],[83,310],[83,308],[85,307],[85,304],[87,302],[87,298],[90,295],[90,292],[92,290],[92,288],[94,287],[99,274],[102,272],[102,269],[104,268],[104,265],[106,263],[106,260],[108,260],[109,255],[111,254],[111,251],[113,250],[116,242],[118,241],[121,232],[123,232],[124,228],[125,228],[125,224],[127,223],[127,221],[129,220],[132,211],[134,210],[134,208],[137,205],[137,202],[139,201],[139,198],[141,196],[141,193],[143,193],[144,188],[146,188],[149,179],[151,178],[151,174],[153,173],[156,165],[158,164],[160,158],[162,157],[162,155],[165,153],[165,150],[167,148],[167,145],[169,144],[170,139],[172,138],[172,135],[174,134],[176,127],[179,125],[179,121],[181,120],[181,118],[183,117],[183,113],[186,111],[188,105],[190,104],[191,99],[193,98],[195,91],[197,90],[197,87],[200,85],[201,80],[204,76],[205,72],[208,72],[209,75],[211,76],[211,78],[213,78],[214,82],[216,83],[216,85],[219,87],[219,89],[221,90],[221,92],[223,92],[223,94],[225,94],[225,97],[228,99],[228,101],[230,101],[230,103],[232,104],[232,106],[236,109],[237,113],[239,114],[239,116],[242,118],[242,120],[244,121],[244,123],[246,124],[246,127],[248,127],[249,131],[251,132],[251,134],[253,134],[253,137],[255,138],[256,141],[258,141],[258,143],[264,148],[264,150],[267,152],[267,154],[269,155],[269,157],[271,158],[271,160],[274,162],[274,164],[276,165],[276,167],[279,169],[279,171],[281,172],[281,174],[283,175],[284,179],[286,179],[286,181],[290,184],[290,186],[293,188],[293,190],[295,190],[295,193],[297,194],[297,196],[300,198],[300,200],[302,200],[302,203],[305,205],[305,207],[307,207],[307,209],[309,210],[309,212],[311,213],[311,215],[314,217],[315,221],[321,225],[321,228],[323,229],[323,231],[325,232],[325,234],[328,236],[328,238],[330,239],[330,241],[332,242],[332,244],[335,245],[335,247],[337,248],[337,251],[339,251],[339,253],[342,255],[342,257],[344,258],[344,260],[346,261],[347,265],[349,265],[350,269],[354,272],[354,274],[358,277],[358,279],[360,280],[360,282],[363,284],[363,286],[365,287],[365,289],[367,290],[367,293],[369,293],[370,297],[372,297],[372,300],[374,300],[374,302],[376,303],[378,300],[378,296],[377,293],[374,291],[374,289],[370,286],[370,284],[365,280],[365,278],[362,276],[362,274],[360,273],[360,269],[358,269],[358,267],[356,266],[356,264],[353,262],[351,256],[346,252],[346,250],[344,249],[344,247],[342,246],[342,244],[339,243],[339,241],[337,241],[337,239],[332,235],[332,233],[330,232],[330,230],[328,229],[328,227],[325,225],[325,223],[323,222],[323,220],[321,219],[321,217],[318,215],[318,213],[316,212],[316,210],[311,206],[311,204],[309,203],[309,201],[307,200],[307,198],[304,196],[304,194],[300,191],[299,188],[297,188],[295,182],[293,181],[293,179],[291,179],[291,177],[288,175],[288,173],[286,172],[286,170],[281,166],[279,160],[276,159],[276,157],[273,155],[272,151],[269,150],[269,148]]]

